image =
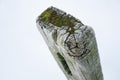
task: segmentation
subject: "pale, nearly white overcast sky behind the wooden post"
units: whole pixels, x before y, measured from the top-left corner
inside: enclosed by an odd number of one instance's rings
[[[104,80],[120,80],[120,0],[0,0],[0,80],[67,80],[36,27],[50,6],[93,27]]]

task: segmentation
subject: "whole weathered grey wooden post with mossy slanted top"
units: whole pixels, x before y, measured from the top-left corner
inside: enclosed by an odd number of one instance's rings
[[[45,10],[36,23],[68,80],[103,80],[91,27],[54,7]]]

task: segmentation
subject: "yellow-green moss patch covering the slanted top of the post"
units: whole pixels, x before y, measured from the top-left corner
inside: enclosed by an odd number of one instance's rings
[[[75,17],[66,14],[65,12],[55,8],[49,7],[37,19],[38,22],[51,23],[55,26],[70,26],[73,27],[75,23],[81,23]],[[82,24],[82,23],[81,23]]]

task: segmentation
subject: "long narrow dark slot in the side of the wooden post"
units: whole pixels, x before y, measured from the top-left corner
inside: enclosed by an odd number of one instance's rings
[[[57,53],[57,55],[58,55],[58,58],[60,59],[60,62],[61,62],[62,65],[63,65],[65,71],[66,71],[69,75],[72,75],[72,73],[71,73],[71,71],[70,71],[70,69],[69,69],[69,67],[68,67],[68,65],[67,65],[64,57],[63,57],[60,53]]]

